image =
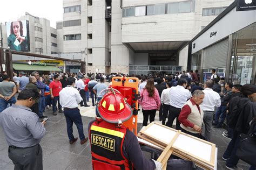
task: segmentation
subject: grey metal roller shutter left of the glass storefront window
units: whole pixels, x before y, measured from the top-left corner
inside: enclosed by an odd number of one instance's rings
[[[226,67],[228,38],[204,49],[203,68]]]

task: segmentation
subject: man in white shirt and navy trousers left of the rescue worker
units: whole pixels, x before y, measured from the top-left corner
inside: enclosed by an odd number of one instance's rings
[[[82,101],[82,97],[74,86],[76,79],[69,77],[68,86],[59,92],[59,103],[64,108],[64,115],[66,117],[66,129],[69,136],[69,143],[73,144],[77,138],[73,136],[73,123],[76,124],[79,133],[80,144],[83,145],[88,138],[84,136],[84,128],[82,116],[77,108],[78,104]]]

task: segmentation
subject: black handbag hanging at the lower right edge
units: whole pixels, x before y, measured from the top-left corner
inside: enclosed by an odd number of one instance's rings
[[[240,134],[237,157],[250,165],[256,166],[256,136],[251,134]]]

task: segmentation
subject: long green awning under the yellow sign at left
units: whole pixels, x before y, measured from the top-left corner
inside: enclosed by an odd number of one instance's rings
[[[55,66],[27,65],[22,63],[13,63],[12,67],[16,70],[61,71],[61,69]]]

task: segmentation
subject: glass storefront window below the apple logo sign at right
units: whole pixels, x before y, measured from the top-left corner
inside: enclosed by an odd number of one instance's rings
[[[256,23],[232,34],[228,80],[234,84],[256,84]]]

